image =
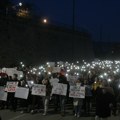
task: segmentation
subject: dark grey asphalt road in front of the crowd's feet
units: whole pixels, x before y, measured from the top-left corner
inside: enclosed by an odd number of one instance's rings
[[[20,111],[12,112],[10,110],[1,110],[0,115],[2,120],[94,120],[94,117],[80,117],[76,118],[72,115],[71,111],[67,111],[65,117],[62,117],[60,114],[55,114],[52,111],[49,111],[47,116],[42,115],[42,111],[36,114],[24,113],[21,114]],[[120,120],[120,115],[111,116],[109,120]]]

